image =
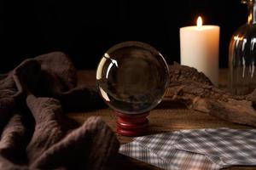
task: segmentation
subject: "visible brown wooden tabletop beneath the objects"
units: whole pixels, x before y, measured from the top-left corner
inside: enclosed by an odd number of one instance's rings
[[[95,85],[95,71],[79,71],[79,84],[90,84]],[[223,69],[219,72],[219,87],[226,88],[227,84],[227,70]],[[84,104],[86,105],[86,104]],[[77,122],[83,123],[90,116],[101,116],[102,119],[108,123],[109,127],[116,132],[116,116],[110,109],[103,109],[97,111],[80,112],[80,113],[69,113],[68,116],[73,118]],[[184,105],[180,104],[168,104],[167,101],[163,100],[161,104],[150,112],[148,116],[149,131],[148,134],[154,133],[165,133],[170,131],[182,130],[182,129],[195,129],[195,128],[217,128],[217,127],[232,127],[232,128],[248,128],[238,124],[225,122],[214,116],[201,113],[199,111],[189,111]],[[121,144],[131,142],[132,138],[123,137],[118,135],[118,139]],[[256,151],[256,150],[255,150]],[[134,160],[128,156],[119,155],[115,158],[113,168],[115,169],[160,169],[158,167],[150,166],[141,161]],[[225,169],[232,170],[251,170],[256,167],[228,167]]]

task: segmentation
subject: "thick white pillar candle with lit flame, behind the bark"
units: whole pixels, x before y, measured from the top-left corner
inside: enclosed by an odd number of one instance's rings
[[[188,65],[203,72],[218,86],[219,26],[202,26],[201,17],[197,26],[180,28],[181,65]]]

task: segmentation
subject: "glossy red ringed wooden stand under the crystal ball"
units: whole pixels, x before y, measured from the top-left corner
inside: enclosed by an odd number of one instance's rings
[[[124,114],[115,111],[118,116],[117,133],[122,136],[140,136],[148,131],[149,111],[143,114]]]

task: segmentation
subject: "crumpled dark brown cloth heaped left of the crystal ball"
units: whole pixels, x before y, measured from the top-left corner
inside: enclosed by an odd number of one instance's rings
[[[73,64],[61,52],[0,75],[0,169],[108,168],[119,150],[110,127],[99,117],[79,127],[63,114],[102,106],[95,90],[77,88]]]

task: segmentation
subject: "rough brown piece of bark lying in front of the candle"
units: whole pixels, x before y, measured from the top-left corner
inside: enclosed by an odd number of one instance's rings
[[[218,116],[229,122],[256,127],[255,95],[236,96],[212,85],[194,68],[174,63],[170,69],[170,86],[166,99],[182,102],[189,109]]]

